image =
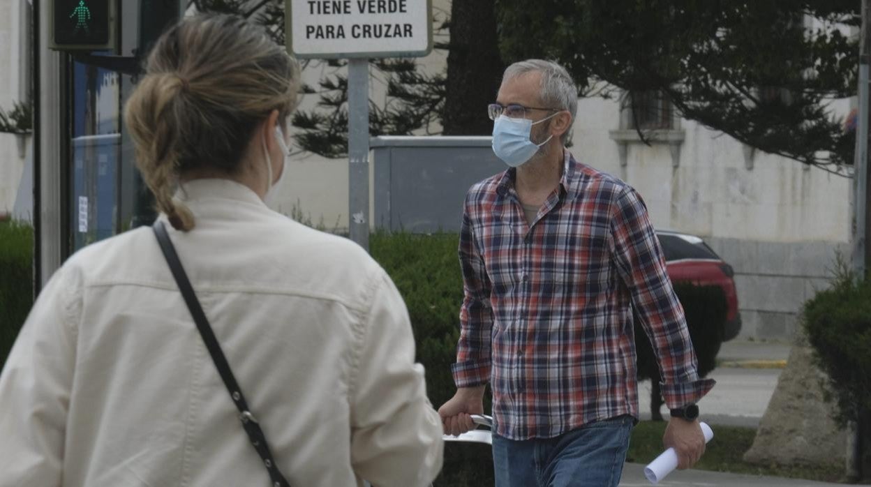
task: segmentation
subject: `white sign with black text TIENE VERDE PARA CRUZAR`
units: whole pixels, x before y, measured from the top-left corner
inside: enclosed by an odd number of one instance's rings
[[[432,50],[431,0],[288,0],[296,57],[421,57]]]

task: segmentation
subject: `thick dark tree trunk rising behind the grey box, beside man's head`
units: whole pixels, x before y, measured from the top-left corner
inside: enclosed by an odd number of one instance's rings
[[[496,100],[505,64],[499,54],[494,0],[454,0],[442,133],[490,135],[487,105]]]

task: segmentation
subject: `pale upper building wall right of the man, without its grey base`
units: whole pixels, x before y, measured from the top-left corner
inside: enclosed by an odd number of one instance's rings
[[[838,100],[832,109],[846,115],[848,107]],[[742,240],[849,239],[849,179],[759,151],[748,168],[744,145],[688,120],[674,130],[684,137],[677,167],[668,144],[640,141],[627,144],[621,166],[610,135],[619,112],[615,100],[582,98],[571,150],[635,186],[657,227]]]

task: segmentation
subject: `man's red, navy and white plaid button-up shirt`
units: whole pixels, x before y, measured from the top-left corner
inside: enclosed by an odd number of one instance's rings
[[[531,226],[514,169],[472,186],[464,205],[454,380],[490,382],[496,434],[515,440],[638,417],[633,306],[668,407],[697,402],[714,384],[699,379],[641,197],[568,151],[564,159],[560,186]]]

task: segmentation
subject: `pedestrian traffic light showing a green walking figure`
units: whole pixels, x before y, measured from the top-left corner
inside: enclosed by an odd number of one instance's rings
[[[55,51],[113,51],[118,0],[52,0],[51,39]]]

